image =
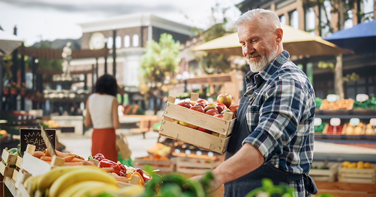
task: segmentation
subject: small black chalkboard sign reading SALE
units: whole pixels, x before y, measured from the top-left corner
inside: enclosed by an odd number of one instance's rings
[[[53,147],[56,149],[56,129],[45,129]],[[43,151],[47,148],[41,135],[41,129],[20,129],[21,151],[26,150],[27,144],[36,146],[35,150]]]

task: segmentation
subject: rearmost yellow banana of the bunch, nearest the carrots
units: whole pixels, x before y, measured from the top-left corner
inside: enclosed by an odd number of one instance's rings
[[[77,169],[87,169],[87,168],[101,169],[99,167],[90,166],[90,165],[56,167],[56,168],[53,168],[51,171],[45,173],[43,177],[39,180],[38,190],[44,192],[45,189],[49,188],[56,179],[58,179],[60,176],[62,176],[65,173],[68,173],[70,171],[77,170]]]

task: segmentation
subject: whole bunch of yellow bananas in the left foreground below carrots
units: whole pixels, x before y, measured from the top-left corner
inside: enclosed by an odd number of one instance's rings
[[[119,186],[114,177],[95,166],[64,166],[48,173],[30,176],[24,181],[30,197],[86,197],[104,192],[117,193]]]

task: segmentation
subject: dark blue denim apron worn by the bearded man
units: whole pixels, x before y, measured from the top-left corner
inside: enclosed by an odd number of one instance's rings
[[[261,87],[265,84],[261,84]],[[256,89],[251,96],[243,96],[240,98],[239,108],[237,112],[237,122],[233,129],[232,137],[227,148],[225,160],[234,155],[241,147],[243,140],[250,134],[249,127],[246,120],[246,113],[248,105],[251,105],[255,98],[255,93],[260,90]],[[293,174],[284,170],[280,170],[271,164],[262,164],[256,170],[230,182],[224,183],[224,197],[244,197],[248,192],[262,186],[261,180],[264,178],[271,179],[274,185],[280,182],[290,182],[293,180],[304,179],[306,191],[311,190],[310,193],[317,193],[316,185],[308,174]],[[311,186],[312,188],[307,188]]]

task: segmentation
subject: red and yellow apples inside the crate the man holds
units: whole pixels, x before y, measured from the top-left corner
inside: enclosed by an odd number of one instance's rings
[[[224,113],[226,113],[226,111],[233,113],[232,119],[236,118],[239,107],[239,105],[232,105],[232,96],[227,93],[218,95],[217,102],[208,102],[205,99],[198,99],[197,101],[183,100],[178,102],[177,105],[189,108],[191,110],[199,111],[201,113],[205,113],[220,119],[223,119],[223,115]],[[180,120],[171,121],[176,122],[179,125],[187,126],[189,128],[197,129],[208,134],[219,136],[219,133],[217,132],[209,131],[208,129],[191,125]]]

